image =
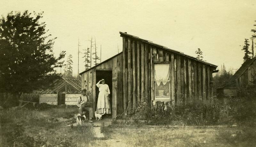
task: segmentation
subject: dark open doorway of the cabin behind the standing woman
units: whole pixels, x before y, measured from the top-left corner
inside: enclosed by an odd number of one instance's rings
[[[108,87],[110,90],[109,101],[110,101],[111,114],[108,114],[108,115],[112,116],[112,70],[96,70],[96,83],[98,83],[101,79],[105,80],[105,84],[108,84]],[[95,100],[95,111],[96,111],[98,96],[100,91],[97,86],[95,89],[96,89],[96,100]]]

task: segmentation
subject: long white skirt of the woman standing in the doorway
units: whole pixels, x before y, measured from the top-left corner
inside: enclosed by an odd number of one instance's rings
[[[105,114],[111,114],[110,102],[108,101],[108,92],[105,90],[100,91],[99,93],[96,109],[96,112],[99,114],[103,114],[104,111],[106,111]]]

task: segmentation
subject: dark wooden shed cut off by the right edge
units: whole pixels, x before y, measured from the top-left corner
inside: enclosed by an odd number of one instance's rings
[[[217,88],[218,98],[233,97],[237,90],[252,84],[256,76],[256,57],[245,61],[226,84]]]

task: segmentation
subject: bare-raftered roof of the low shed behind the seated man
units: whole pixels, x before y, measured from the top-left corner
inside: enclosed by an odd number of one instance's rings
[[[50,86],[47,89],[42,91],[41,94],[52,94],[53,92],[61,91],[61,90],[65,89],[66,84],[67,84],[67,87],[72,86],[77,91],[81,91],[82,82],[80,80],[60,78],[60,79],[52,82],[52,84],[50,84]]]

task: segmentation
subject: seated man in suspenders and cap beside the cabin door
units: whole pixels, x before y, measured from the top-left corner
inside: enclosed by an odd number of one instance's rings
[[[77,99],[77,106],[79,107],[78,112],[82,116],[83,111],[89,111],[89,122],[92,123],[93,110],[92,110],[92,99],[87,97],[86,89],[82,90],[82,95]]]

